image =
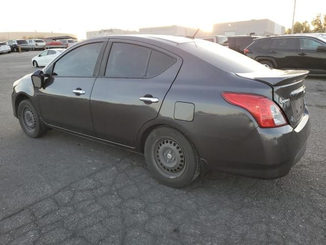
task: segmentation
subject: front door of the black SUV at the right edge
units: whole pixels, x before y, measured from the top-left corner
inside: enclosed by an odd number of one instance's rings
[[[298,68],[308,69],[317,74],[326,71],[326,52],[318,49],[319,46],[325,46],[325,44],[309,37],[298,38]]]

